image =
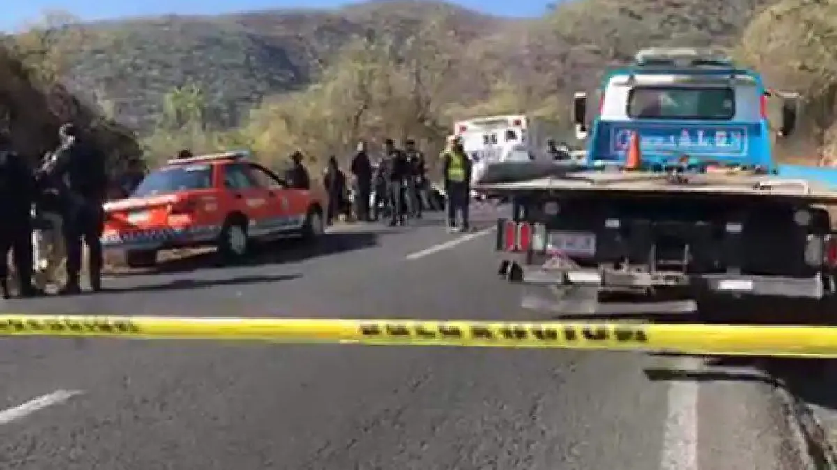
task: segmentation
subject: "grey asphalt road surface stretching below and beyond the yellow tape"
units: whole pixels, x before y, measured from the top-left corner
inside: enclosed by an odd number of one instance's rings
[[[249,266],[200,260],[32,313],[521,319],[489,227],[357,226]],[[0,468],[798,468],[753,370],[566,350],[0,340]]]

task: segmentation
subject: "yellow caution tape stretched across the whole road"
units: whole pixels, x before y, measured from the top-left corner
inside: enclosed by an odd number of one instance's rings
[[[817,326],[5,314],[0,335],[837,357],[837,328]]]

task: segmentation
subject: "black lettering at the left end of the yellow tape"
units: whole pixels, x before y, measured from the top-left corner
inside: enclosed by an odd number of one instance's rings
[[[0,320],[2,333],[40,333],[56,335],[133,335],[140,329],[131,321],[122,319],[3,319]]]

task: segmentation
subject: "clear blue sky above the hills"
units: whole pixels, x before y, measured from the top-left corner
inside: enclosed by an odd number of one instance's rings
[[[44,10],[62,10],[84,19],[121,18],[166,13],[213,14],[279,8],[331,8],[341,0],[3,0],[0,30],[13,31]],[[454,0],[468,8],[505,16],[531,17],[546,11],[544,0]],[[175,7],[174,5],[177,5]]]

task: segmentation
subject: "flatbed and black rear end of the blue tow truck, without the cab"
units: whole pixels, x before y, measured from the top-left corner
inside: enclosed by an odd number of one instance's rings
[[[498,221],[497,250],[502,275],[547,289],[524,308],[694,314],[717,296],[834,294],[827,186],[752,171],[555,172],[477,186],[523,207]]]

